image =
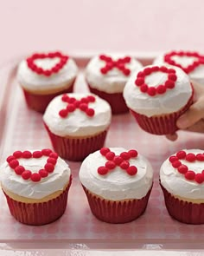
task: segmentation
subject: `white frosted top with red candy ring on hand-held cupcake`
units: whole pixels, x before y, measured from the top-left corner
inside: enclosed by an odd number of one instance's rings
[[[188,75],[172,66],[150,65],[139,69],[124,87],[127,106],[149,117],[176,112],[192,95]]]

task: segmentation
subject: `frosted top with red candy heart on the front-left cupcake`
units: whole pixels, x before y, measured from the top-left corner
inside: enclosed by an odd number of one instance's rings
[[[3,188],[29,199],[63,190],[70,175],[67,163],[48,148],[15,151],[0,167]]]

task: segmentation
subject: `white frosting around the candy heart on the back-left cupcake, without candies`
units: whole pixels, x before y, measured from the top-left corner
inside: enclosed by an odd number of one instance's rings
[[[57,62],[59,62],[58,57],[53,59],[45,58],[35,60],[37,66],[42,69],[51,69]],[[32,69],[29,69],[26,60],[23,60],[20,62],[17,69],[17,80],[24,89],[31,91],[45,91],[49,89],[58,89],[61,88],[61,86],[72,83],[77,72],[78,68],[76,63],[70,57],[58,73],[50,76],[38,75]]]

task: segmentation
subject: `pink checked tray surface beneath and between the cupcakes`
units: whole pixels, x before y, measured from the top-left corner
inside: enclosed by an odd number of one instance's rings
[[[82,61],[83,59],[79,59],[78,63],[82,64]],[[16,82],[15,72],[11,72],[9,78],[7,96],[3,98],[1,114],[1,123],[3,121],[5,128],[1,141],[1,161],[17,149],[51,147],[42,124],[41,114],[26,107],[22,90]],[[82,91],[87,89],[83,73],[79,75],[75,86],[76,91],[81,91],[81,89]],[[97,220],[92,215],[86,195],[80,186],[78,177],[80,162],[70,161],[73,184],[69,192],[67,211],[60,220],[52,224],[25,226],[18,223],[10,215],[3,193],[0,192],[0,240],[32,243],[39,240],[53,243],[61,240],[67,243],[86,243],[86,241],[114,243],[122,240],[124,247],[128,246],[128,242],[135,243],[136,240],[142,244],[170,245],[179,239],[184,246],[188,246],[195,240],[197,243],[203,241],[203,225],[185,225],[169,217],[164,206],[162,190],[158,184],[159,167],[169,154],[182,148],[203,148],[203,145],[203,135],[180,132],[179,140],[171,142],[164,136],[145,133],[137,126],[131,114],[115,115],[107,136],[106,146],[136,148],[140,154],[150,160],[154,168],[154,186],[143,216],[124,225],[112,225]]]

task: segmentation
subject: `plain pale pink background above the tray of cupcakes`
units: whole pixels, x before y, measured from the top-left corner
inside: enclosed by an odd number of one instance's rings
[[[202,0],[1,1],[0,59],[35,50],[204,52]]]

